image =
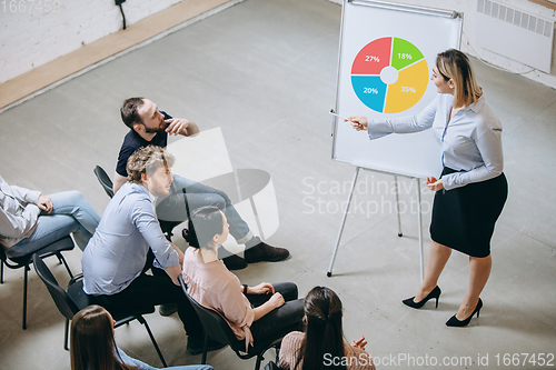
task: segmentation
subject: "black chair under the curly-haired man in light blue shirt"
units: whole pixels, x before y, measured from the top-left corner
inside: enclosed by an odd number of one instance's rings
[[[52,272],[50,269],[47,267],[44,261],[42,261],[42,258],[39,254],[33,254],[32,261],[34,264],[34,270],[37,271],[37,274],[39,278],[44,282],[47,286],[48,292],[52,297],[56,307],[58,307],[58,310],[60,313],[66,318],[66,331],[64,331],[64,337],[63,337],[63,349],[68,350],[68,334],[69,334],[69,321],[73,318],[73,316],[86,308],[87,306],[90,304],[89,302],[89,296],[87,296],[83,291],[83,281],[81,278],[83,277],[82,273],[73,277],[70,282],[68,283],[68,289],[63,290],[59,284],[56,278],[53,277]],[[160,352],[160,348],[157,344],[157,341],[155,340],[155,337],[152,336],[152,332],[150,331],[149,324],[142,317],[146,313],[152,313],[155,312],[155,306],[143,306],[143,307],[133,307],[130,308],[129,311],[113,311],[110,310],[110,314],[112,318],[116,320],[115,328],[121,327],[125,323],[129,323],[130,321],[137,320],[141,324],[145,326],[145,329],[147,329],[147,332],[149,333],[150,340],[152,341],[152,346],[155,346],[155,349],[157,350],[158,357],[160,358],[160,361],[162,362],[163,367],[166,368],[166,361],[165,358],[162,357],[162,353]]]

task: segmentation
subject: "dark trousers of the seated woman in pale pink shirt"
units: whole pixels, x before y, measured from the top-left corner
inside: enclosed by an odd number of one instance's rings
[[[286,303],[268,312],[251,324],[251,334],[257,339],[268,338],[287,328],[298,330],[304,319],[304,300],[297,299],[297,286],[292,282],[272,284],[275,292],[282,294]],[[252,307],[259,307],[268,301],[271,294],[246,294]]]

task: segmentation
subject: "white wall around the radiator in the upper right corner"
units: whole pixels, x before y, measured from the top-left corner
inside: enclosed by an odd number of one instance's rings
[[[341,3],[341,0],[330,0],[332,2]],[[508,7],[520,9],[533,16],[538,16],[546,19],[552,19],[556,21],[556,12],[548,8],[535,4],[527,0],[493,0],[498,3],[507,4]],[[556,88],[556,46],[553,46],[553,60],[550,73],[544,73],[542,71],[533,70],[532,68],[519,62],[507,59],[503,56],[490,52],[486,49],[480,48],[477,44],[477,38],[480,34],[475,32],[475,19],[477,0],[396,0],[391,2],[421,6],[429,8],[439,8],[447,10],[456,10],[464,13],[464,34],[461,40],[461,50],[479,57],[483,60],[488,61],[492,64],[498,66],[500,68],[510,70],[516,73],[523,73],[523,76],[530,78],[533,80],[539,81],[553,88]],[[556,38],[554,39],[556,43]],[[525,72],[525,73],[524,73]]]

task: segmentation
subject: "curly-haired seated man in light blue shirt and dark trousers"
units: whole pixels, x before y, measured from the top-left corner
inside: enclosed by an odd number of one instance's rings
[[[129,158],[129,181],[108,204],[81,259],[83,290],[91,302],[109,311],[177,303],[187,347],[200,352],[202,326],[177,280],[183,253],[162,234],[153,207],[157,197],[168,194],[173,160],[153,146]],[[149,249],[152,261],[147,258]],[[152,276],[145,273],[149,268]],[[209,343],[210,349],[219,347],[222,344]]]

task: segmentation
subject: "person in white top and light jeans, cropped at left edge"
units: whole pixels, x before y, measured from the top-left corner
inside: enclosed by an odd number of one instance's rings
[[[0,177],[0,243],[10,258],[29,254],[73,233],[83,250],[100,216],[79,191],[42,196]]]

